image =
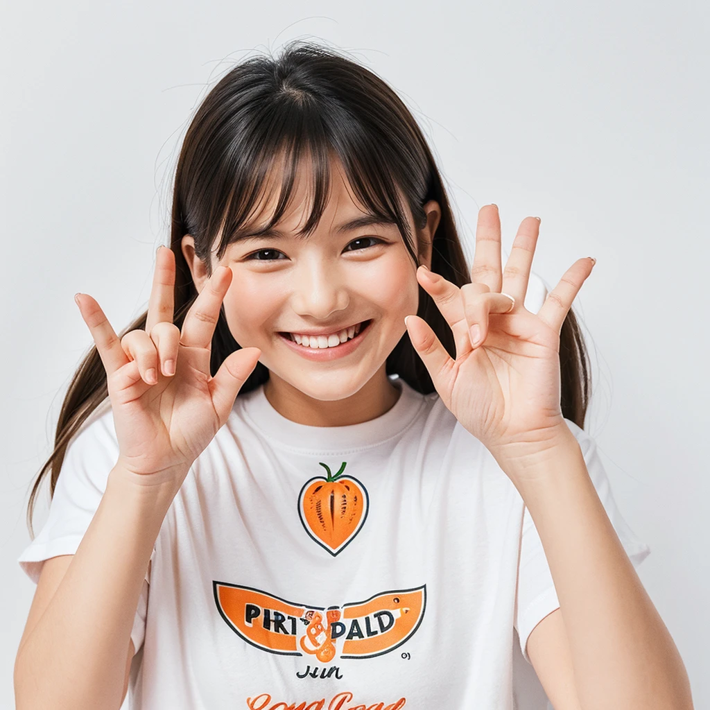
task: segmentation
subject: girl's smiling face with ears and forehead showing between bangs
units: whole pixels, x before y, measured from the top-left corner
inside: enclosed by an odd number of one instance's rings
[[[310,162],[303,165],[308,170]],[[219,261],[211,255],[213,269],[221,264],[233,273],[224,297],[229,329],[241,346],[261,349],[274,404],[280,399],[298,400],[306,408],[334,400],[353,405],[358,393],[382,401],[383,391],[392,389],[386,358],[406,331],[404,317],[417,312],[417,265],[395,224],[363,223],[371,215],[354,198],[336,160],[320,222],[309,236],[300,236],[311,200],[310,180],[297,175],[306,179],[297,178],[277,234],[239,239]],[[271,185],[280,185],[280,170],[271,178]],[[258,204],[243,234],[267,224],[273,214],[278,190],[265,192],[269,197]],[[425,212],[422,230],[407,214],[420,263],[430,266],[439,205],[427,202]],[[183,253],[200,290],[207,273],[191,244],[192,237],[185,236]]]

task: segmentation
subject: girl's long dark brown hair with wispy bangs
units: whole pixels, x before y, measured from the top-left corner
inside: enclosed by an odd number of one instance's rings
[[[285,157],[283,182],[271,223],[282,217],[290,199],[302,155],[312,160],[310,217],[302,229],[309,234],[327,202],[330,156],[342,162],[356,197],[373,214],[398,225],[417,263],[414,237],[400,195],[415,226],[426,218],[422,206],[436,200],[441,219],[433,239],[432,271],[459,286],[469,283],[466,264],[442,178],[413,115],[397,94],[370,70],[334,50],[308,42],[287,45],[278,58],[250,58],[233,67],[207,94],[190,123],[175,170],[170,249],[175,254],[175,317],[182,327],[197,297],[190,269],[182,255],[185,234],[195,239],[195,252],[211,272],[209,251],[219,236],[217,258],[249,218],[277,156]],[[424,318],[449,354],[455,356],[452,331],[431,297],[419,289],[417,315]],[[145,328],[147,311],[121,331]],[[212,338],[212,374],[239,348],[231,336],[224,307]],[[589,361],[572,310],[560,333],[562,414],[584,427],[589,400]],[[434,391],[420,356],[404,334],[386,361],[388,374],[397,373],[421,393]],[[256,364],[241,393],[268,379],[268,369]],[[28,524],[38,487],[51,471],[50,495],[70,439],[108,396],[106,373],[96,346],[84,357],[62,404],[55,446],[31,491]]]

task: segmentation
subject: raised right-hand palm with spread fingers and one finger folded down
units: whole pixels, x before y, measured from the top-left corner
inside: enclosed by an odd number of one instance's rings
[[[439,396],[496,458],[536,454],[569,435],[560,408],[559,333],[594,260],[575,261],[531,313],[523,302],[539,231],[539,219],[523,219],[501,273],[501,221],[489,204],[479,211],[471,283],[458,288],[417,269],[418,282],[452,328],[456,359],[425,320],[407,317]]]

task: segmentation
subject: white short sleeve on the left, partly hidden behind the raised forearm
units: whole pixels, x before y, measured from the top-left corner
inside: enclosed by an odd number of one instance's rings
[[[50,502],[48,518],[35,539],[17,558],[21,569],[37,584],[46,559],[74,555],[106,491],[109,472],[119,457],[113,413],[105,406],[87,418],[70,441]],[[155,550],[153,550],[153,555]],[[151,557],[153,559],[153,557]],[[148,584],[146,572],[131,638],[136,650],[143,643]]]

